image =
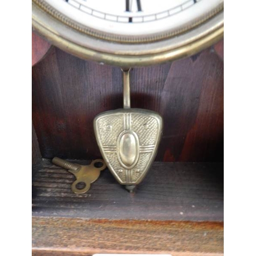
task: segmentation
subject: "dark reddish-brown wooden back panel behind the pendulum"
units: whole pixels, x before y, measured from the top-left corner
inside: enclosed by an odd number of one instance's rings
[[[41,155],[100,157],[93,119],[122,108],[122,74],[55,47],[32,69],[32,119]],[[159,112],[158,161],[223,161],[223,61],[213,48],[131,71],[133,108]]]

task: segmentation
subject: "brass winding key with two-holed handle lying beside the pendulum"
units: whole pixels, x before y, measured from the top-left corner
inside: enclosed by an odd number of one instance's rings
[[[54,157],[52,162],[75,175],[76,180],[71,185],[71,189],[75,194],[86,193],[90,189],[91,183],[99,178],[100,171],[106,167],[102,159],[96,159],[89,165],[70,163],[58,157]],[[100,167],[97,167],[97,164],[99,164]],[[81,185],[81,188],[79,188],[79,185]]]

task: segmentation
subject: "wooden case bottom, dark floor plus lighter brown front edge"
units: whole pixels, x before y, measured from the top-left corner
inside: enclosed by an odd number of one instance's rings
[[[35,170],[34,255],[223,254],[223,163],[155,162],[134,194],[107,169],[87,194],[73,180],[49,160]]]

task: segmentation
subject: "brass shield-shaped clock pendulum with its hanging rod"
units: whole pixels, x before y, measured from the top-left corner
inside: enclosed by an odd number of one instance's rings
[[[130,69],[123,71],[123,109],[94,119],[102,157],[116,180],[133,191],[153,163],[162,135],[162,117],[153,111],[131,109]]]

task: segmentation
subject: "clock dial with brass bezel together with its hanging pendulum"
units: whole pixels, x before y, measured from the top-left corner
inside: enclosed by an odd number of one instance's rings
[[[222,0],[32,0],[32,26],[80,58],[119,66],[123,109],[99,114],[94,130],[117,181],[142,181],[162,134],[159,114],[131,109],[131,67],[189,56],[223,37]]]

